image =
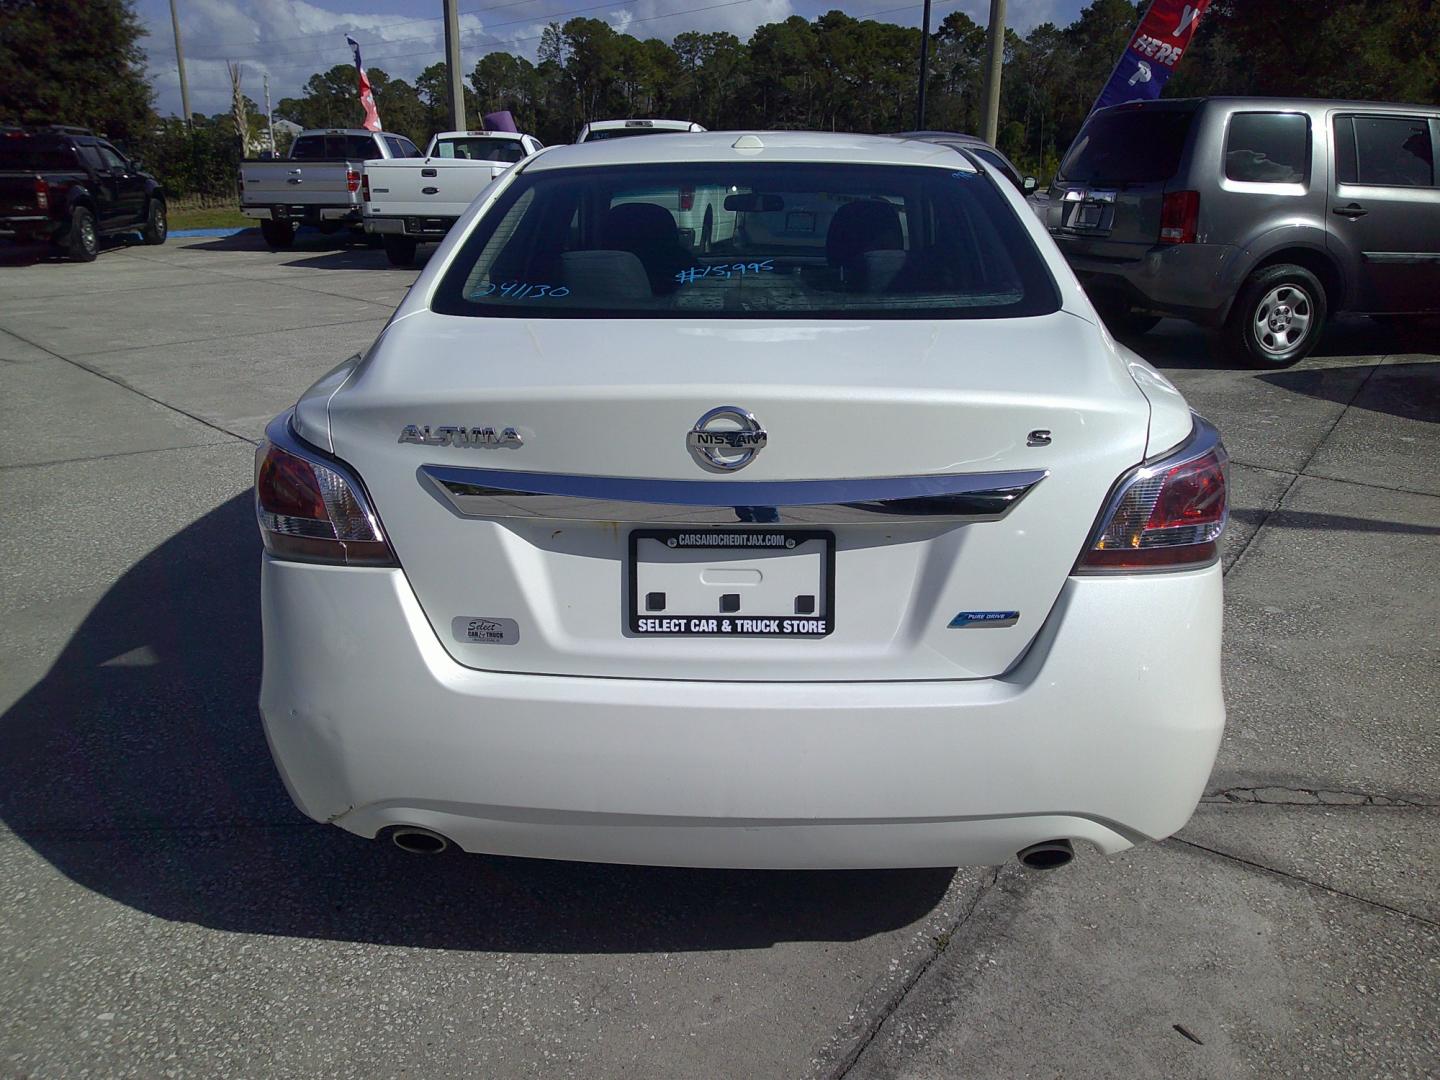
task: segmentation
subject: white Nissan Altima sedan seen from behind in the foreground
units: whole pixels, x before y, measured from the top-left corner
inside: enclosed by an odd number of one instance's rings
[[[950,147],[541,151],[256,461],[265,730],[363,837],[1053,867],[1215,756],[1220,439]]]

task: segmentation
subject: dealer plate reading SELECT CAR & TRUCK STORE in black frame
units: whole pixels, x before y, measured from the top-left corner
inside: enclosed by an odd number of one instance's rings
[[[835,534],[636,528],[628,624],[652,636],[824,638],[835,625]]]

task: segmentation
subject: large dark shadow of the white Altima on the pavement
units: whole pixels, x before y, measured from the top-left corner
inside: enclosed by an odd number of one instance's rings
[[[251,498],[132,566],[0,717],[0,818],[75,883],[236,933],[517,952],[855,940],[922,919],[945,894],[953,870],[425,857],[302,818],[255,706]]]

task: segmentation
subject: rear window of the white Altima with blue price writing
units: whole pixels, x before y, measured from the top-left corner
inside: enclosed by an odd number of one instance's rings
[[[782,163],[521,173],[433,308],[527,318],[999,318],[1056,311],[973,171]]]

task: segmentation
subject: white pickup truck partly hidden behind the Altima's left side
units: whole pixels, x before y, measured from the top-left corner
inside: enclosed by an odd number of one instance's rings
[[[364,230],[384,239],[392,265],[409,266],[416,245],[445,239],[491,180],[541,147],[513,131],[442,131],[422,158],[366,161]]]

